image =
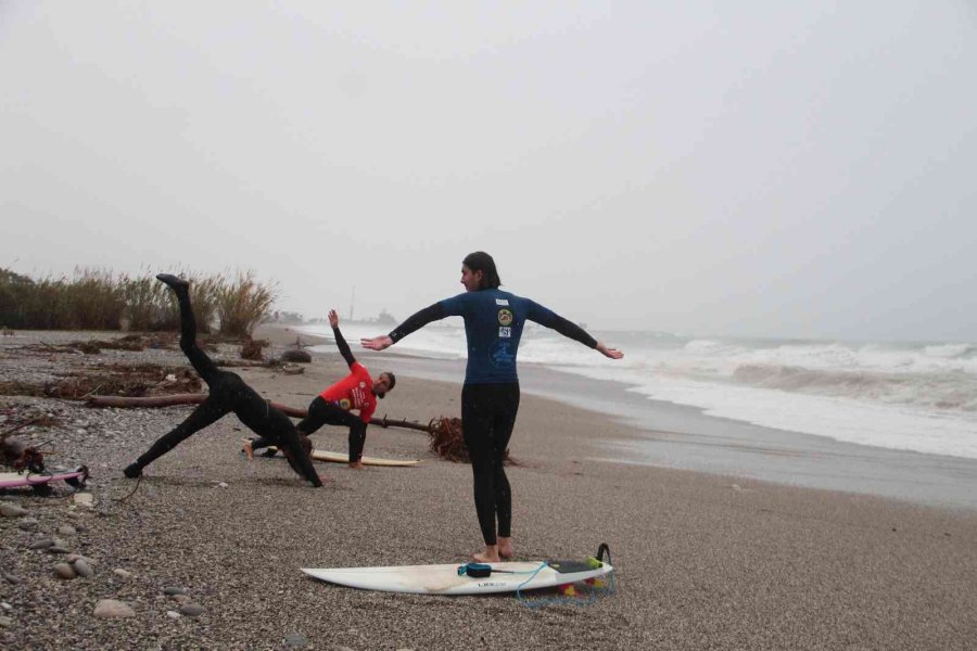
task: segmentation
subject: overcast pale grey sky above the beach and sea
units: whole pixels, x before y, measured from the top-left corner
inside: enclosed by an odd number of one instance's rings
[[[0,267],[975,341],[975,80],[966,1],[0,2]]]

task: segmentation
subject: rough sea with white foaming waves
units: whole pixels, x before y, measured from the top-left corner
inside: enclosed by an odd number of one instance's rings
[[[351,346],[384,334],[342,324]],[[327,324],[303,330],[331,336]],[[857,445],[977,459],[977,344],[686,336],[592,331],[624,352],[612,361],[546,328],[526,324],[521,365],[627,385],[649,400],[708,416]],[[410,334],[397,353],[466,357],[460,319]]]

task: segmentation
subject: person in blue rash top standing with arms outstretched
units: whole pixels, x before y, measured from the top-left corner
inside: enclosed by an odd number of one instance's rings
[[[575,323],[549,309],[499,290],[495,260],[487,253],[469,254],[461,265],[466,293],[441,301],[409,317],[388,335],[360,340],[382,350],[431,321],[460,316],[468,340],[468,366],[461,388],[461,429],[471,457],[475,512],[485,540],[479,562],[511,558],[512,496],[503,458],[519,410],[516,354],[526,320],[551,328],[611,359],[624,354],[608,348]],[[497,524],[497,527],[496,527]]]

